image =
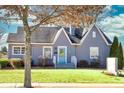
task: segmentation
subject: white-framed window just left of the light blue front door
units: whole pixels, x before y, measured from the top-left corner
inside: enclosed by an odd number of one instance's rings
[[[50,46],[43,47],[43,57],[52,58],[52,47]]]

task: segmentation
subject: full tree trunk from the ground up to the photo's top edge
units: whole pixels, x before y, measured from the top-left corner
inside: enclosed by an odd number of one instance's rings
[[[28,6],[22,9],[22,15],[20,15],[24,26],[24,41],[25,41],[25,56],[24,56],[24,87],[31,88],[31,31],[28,24]]]

